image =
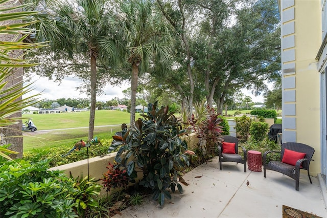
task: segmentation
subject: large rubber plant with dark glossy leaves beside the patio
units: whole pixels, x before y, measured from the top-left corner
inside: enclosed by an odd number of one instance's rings
[[[189,165],[189,157],[193,155],[186,143],[179,137],[186,134],[180,120],[168,114],[169,107],[157,109],[157,102],[148,104],[149,112],[142,115],[144,119],[135,121],[125,136],[116,136],[123,146],[119,149],[115,161],[116,167],[126,167],[128,176],[136,178],[136,172],[143,171],[143,180],[139,185],[153,190],[153,199],[163,205],[171,199],[168,188],[182,192],[177,181],[177,170]],[[113,145],[111,145],[112,147]],[[116,143],[114,146],[119,146]]]

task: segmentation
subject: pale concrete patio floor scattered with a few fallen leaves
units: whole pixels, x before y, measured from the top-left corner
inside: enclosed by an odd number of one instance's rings
[[[295,180],[282,173],[267,170],[264,178],[263,171],[244,172],[242,164],[232,162],[222,168],[215,157],[186,173],[183,179],[189,185],[182,185],[184,192],[176,191],[163,206],[150,197],[113,217],[282,217],[283,205],[327,217],[326,190],[317,177],[310,184],[304,170],[296,191]]]

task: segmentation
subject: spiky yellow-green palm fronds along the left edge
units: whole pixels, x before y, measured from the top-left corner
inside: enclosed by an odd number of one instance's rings
[[[19,122],[19,118],[11,117],[13,114],[21,111],[22,108],[35,103],[34,95],[28,98],[22,99],[22,95],[27,94],[32,89],[32,84],[22,85],[18,82],[14,85],[7,86],[9,84],[9,76],[12,70],[17,67],[29,67],[35,66],[34,61],[27,60],[24,55],[31,49],[41,48],[41,43],[25,43],[23,42],[29,35],[34,34],[35,31],[31,28],[26,28],[29,25],[36,24],[35,20],[31,17],[38,12],[24,11],[26,4],[7,4],[9,0],[0,0],[0,13],[2,25],[0,25],[0,34],[12,34],[11,41],[0,41],[0,128],[7,128],[5,126],[16,124]],[[11,2],[10,2],[11,3]],[[13,10],[22,9],[20,12],[13,12]],[[21,53],[13,53],[14,50],[22,50]],[[16,56],[12,56],[15,54]],[[20,129],[19,129],[20,130]],[[1,140],[1,139],[0,139]],[[4,152],[11,154],[18,154],[15,151],[8,150],[4,147],[0,147],[0,156],[7,159],[11,158]]]

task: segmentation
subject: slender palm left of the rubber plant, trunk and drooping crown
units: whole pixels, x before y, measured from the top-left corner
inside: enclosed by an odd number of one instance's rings
[[[108,34],[109,7],[106,0],[55,1],[48,16],[36,29],[39,40],[49,40],[52,51],[66,60],[83,55],[89,58],[91,96],[88,140],[94,135],[97,94],[97,61],[108,62],[100,48],[100,38]],[[75,56],[74,56],[75,55]]]

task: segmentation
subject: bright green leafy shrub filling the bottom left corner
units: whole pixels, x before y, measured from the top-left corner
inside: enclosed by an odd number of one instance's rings
[[[74,212],[73,180],[49,171],[49,160],[1,161],[1,217],[78,217]]]

